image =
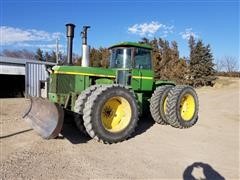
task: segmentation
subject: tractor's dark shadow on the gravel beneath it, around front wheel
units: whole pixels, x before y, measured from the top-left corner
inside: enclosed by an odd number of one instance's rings
[[[150,127],[152,127],[153,124],[154,124],[154,121],[152,120],[152,118],[141,117],[139,119],[137,128],[131,138],[134,138],[138,135],[143,134]],[[58,137],[58,139],[66,138],[72,144],[87,143],[89,140],[91,140],[91,138],[88,135],[82,133],[80,130],[77,129],[73,120],[73,115],[69,113],[66,115],[64,119],[64,124],[63,124],[61,134],[63,137]],[[129,141],[131,141],[131,138],[129,138]]]

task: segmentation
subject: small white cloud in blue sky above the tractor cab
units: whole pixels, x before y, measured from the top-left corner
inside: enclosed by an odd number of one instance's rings
[[[162,30],[163,36],[167,36],[169,33],[173,33],[173,28],[173,25],[168,26],[157,21],[152,21],[151,23],[134,24],[128,28],[128,32],[139,36],[152,37],[155,33]]]

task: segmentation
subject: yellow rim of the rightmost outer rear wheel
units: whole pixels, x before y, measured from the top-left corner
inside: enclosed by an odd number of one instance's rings
[[[195,100],[191,94],[186,94],[181,99],[180,115],[184,121],[190,121],[195,113]]]

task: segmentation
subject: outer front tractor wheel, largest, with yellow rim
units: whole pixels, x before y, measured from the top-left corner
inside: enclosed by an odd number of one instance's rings
[[[138,122],[134,93],[121,85],[98,88],[88,98],[83,120],[88,134],[98,141],[117,143],[127,139]]]

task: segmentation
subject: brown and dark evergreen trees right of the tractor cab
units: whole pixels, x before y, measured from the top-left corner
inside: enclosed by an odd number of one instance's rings
[[[153,65],[157,79],[174,80],[194,87],[213,85],[216,79],[214,59],[210,45],[205,45],[202,40],[196,41],[193,36],[189,38],[189,58],[179,56],[176,41],[143,38],[140,43],[153,47]]]

